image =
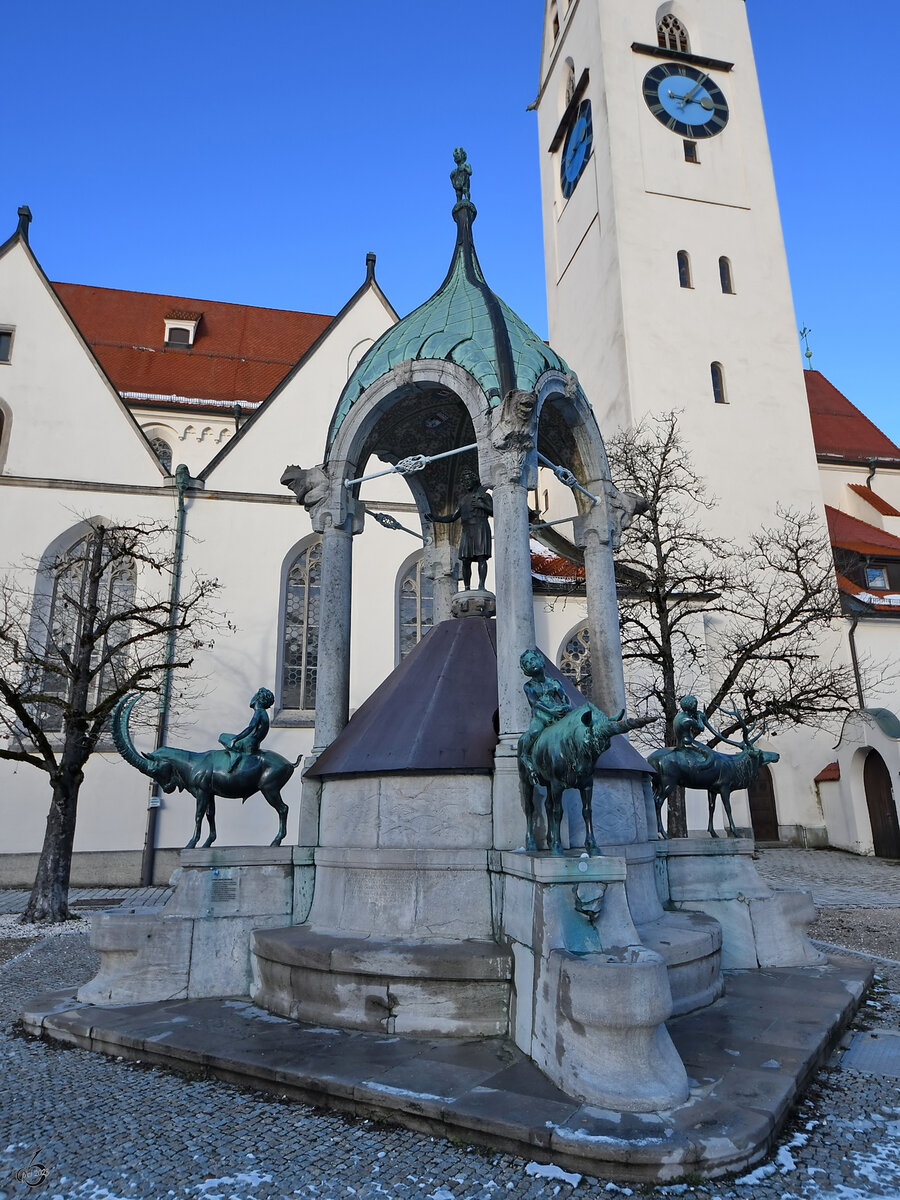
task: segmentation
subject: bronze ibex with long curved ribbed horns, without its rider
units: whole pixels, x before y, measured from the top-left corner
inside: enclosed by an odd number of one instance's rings
[[[204,848],[216,840],[216,797],[240,798],[262,792],[278,814],[278,833],[272,846],[280,846],[287,834],[288,806],[281,798],[281,790],[288,782],[302,758],[289,762],[274,750],[241,754],[234,762],[233,750],[178,750],[160,746],[149,755],[140,754],[131,740],[128,719],[140,697],[125,696],[115,706],[112,719],[113,742],[127,763],[144,775],[149,775],[163,792],[190,792],[197,802],[193,838],[186,850],[193,850],[200,838],[200,824],[206,818],[209,836]]]

